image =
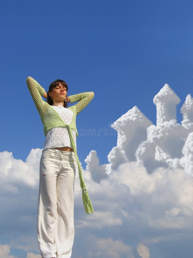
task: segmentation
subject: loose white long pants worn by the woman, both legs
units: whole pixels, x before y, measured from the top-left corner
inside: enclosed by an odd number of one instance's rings
[[[40,159],[37,239],[43,258],[70,258],[74,241],[73,151],[43,150]]]

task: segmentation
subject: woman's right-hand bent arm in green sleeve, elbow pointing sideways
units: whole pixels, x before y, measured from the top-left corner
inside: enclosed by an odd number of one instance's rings
[[[93,97],[94,97],[94,92],[89,91],[89,92],[78,93],[75,95],[70,95],[69,100],[70,100],[70,103],[79,101],[77,104],[74,105],[76,107],[76,114],[78,114],[81,110],[83,110],[88,105],[88,103],[90,103]]]

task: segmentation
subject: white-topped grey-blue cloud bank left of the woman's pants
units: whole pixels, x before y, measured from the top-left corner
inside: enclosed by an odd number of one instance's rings
[[[0,228],[5,237],[36,231],[40,156],[40,149],[32,149],[24,162],[11,152],[0,153]]]

